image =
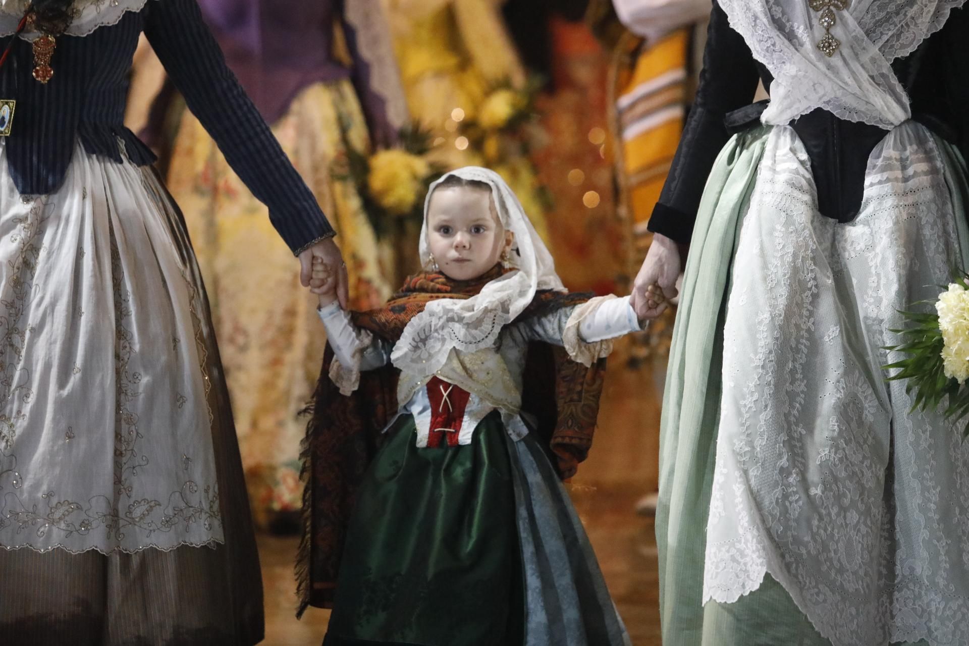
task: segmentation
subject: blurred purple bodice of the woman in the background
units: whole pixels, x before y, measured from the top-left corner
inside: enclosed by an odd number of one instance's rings
[[[351,77],[351,70],[331,53],[340,4],[199,0],[229,67],[268,123],[278,121],[307,85]]]

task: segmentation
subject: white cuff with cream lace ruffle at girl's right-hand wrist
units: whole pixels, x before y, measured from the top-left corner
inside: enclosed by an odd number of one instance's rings
[[[630,317],[631,312],[628,296],[617,298],[610,294],[592,298],[572,311],[562,330],[562,346],[574,361],[591,366],[609,356],[612,339],[640,329],[635,313]]]

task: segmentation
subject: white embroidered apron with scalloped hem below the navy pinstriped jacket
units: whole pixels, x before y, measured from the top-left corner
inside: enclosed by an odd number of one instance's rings
[[[0,546],[223,540],[178,217],[150,169],[79,145],[55,195],[21,198],[0,152]]]

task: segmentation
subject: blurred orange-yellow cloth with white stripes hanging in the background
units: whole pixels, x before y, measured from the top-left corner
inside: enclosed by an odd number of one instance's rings
[[[620,44],[614,125],[622,150],[623,202],[634,240],[631,260],[637,265],[649,246],[646,224],[683,131],[689,46],[689,28],[652,45],[635,38]]]

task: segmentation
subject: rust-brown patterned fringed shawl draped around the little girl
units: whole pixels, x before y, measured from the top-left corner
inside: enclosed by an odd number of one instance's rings
[[[469,282],[439,273],[409,277],[403,289],[378,310],[354,313],[354,323],[375,336],[396,341],[404,326],[435,298],[468,298],[500,276],[495,267]],[[539,292],[519,320],[578,305],[589,294]],[[351,396],[339,393],[329,375],[328,349],[302,446],[303,536],[297,557],[300,616],[308,605],[331,607],[343,541],[357,489],[381,441],[381,431],[397,412],[399,371],[391,365],[364,372]],[[538,433],[560,477],[575,475],[592,446],[606,361],[591,368],[571,360],[565,351],[532,343],[525,365],[522,411],[538,420]]]

